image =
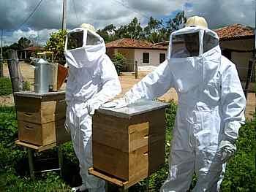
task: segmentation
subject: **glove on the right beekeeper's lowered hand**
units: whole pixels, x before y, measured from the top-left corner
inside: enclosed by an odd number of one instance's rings
[[[222,140],[219,144],[218,154],[223,163],[227,162],[236,153],[236,145],[234,142]]]

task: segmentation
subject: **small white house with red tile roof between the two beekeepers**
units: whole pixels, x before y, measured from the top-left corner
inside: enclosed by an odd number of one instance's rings
[[[121,53],[127,59],[124,71],[134,72],[135,61],[138,62],[138,69],[147,69],[158,66],[165,61],[167,47],[154,45],[150,42],[136,39],[123,38],[106,44],[107,54],[110,58],[116,53]]]

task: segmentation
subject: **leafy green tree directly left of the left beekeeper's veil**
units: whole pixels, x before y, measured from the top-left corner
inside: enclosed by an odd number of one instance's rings
[[[59,64],[65,64],[64,47],[67,36],[67,30],[59,30],[50,34],[50,38],[46,42],[45,50],[53,51],[54,60]]]

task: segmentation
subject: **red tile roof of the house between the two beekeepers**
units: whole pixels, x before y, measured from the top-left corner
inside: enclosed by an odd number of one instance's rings
[[[162,45],[154,45],[150,42],[137,39],[123,38],[106,44],[107,48],[137,48],[150,50],[167,50],[167,47]]]

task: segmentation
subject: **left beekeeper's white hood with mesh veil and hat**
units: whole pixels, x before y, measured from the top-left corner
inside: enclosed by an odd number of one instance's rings
[[[89,24],[84,23],[67,34],[64,55],[68,65],[76,68],[93,66],[105,52],[104,39]]]

